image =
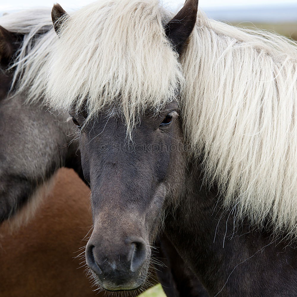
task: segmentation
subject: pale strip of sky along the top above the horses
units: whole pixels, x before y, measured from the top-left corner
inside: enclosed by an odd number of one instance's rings
[[[52,7],[54,2],[58,2],[65,9],[70,9],[80,8],[94,2],[94,0],[0,0],[0,11],[41,6]],[[180,0],[162,0],[162,2],[173,8],[178,8],[183,4],[183,1]],[[200,8],[206,10],[224,7],[251,7],[266,4],[297,4],[297,0],[199,0]]]

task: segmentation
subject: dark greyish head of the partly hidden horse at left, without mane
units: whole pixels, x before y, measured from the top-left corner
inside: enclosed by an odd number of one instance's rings
[[[35,34],[49,29],[50,26],[43,26]],[[14,58],[22,58],[23,40],[29,42],[28,46],[34,44],[34,36],[25,32],[26,29],[15,33],[0,27],[0,223],[32,200],[58,168],[73,168],[83,178],[69,116],[51,113],[39,102],[26,104],[26,94],[22,92],[14,95]]]

